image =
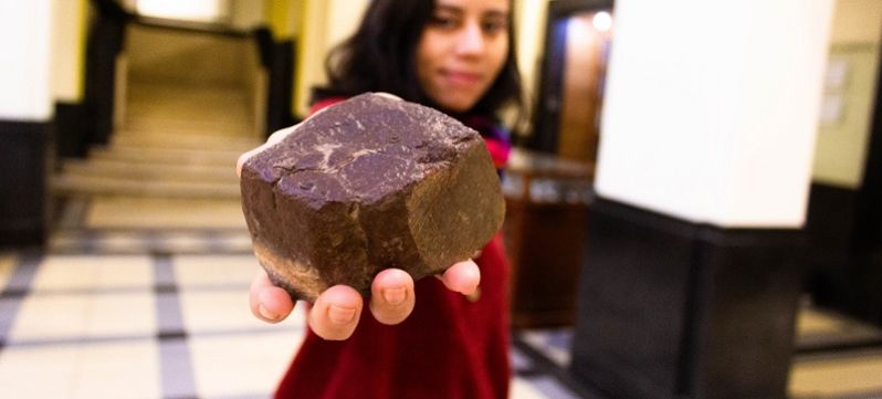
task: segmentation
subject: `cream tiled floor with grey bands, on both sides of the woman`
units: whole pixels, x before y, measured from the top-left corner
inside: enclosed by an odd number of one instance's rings
[[[191,231],[186,248],[157,252],[151,242],[175,242],[181,233],[169,230],[165,238],[148,230],[151,241],[136,230],[82,235],[109,242],[125,237],[127,251],[80,243],[65,251],[0,254],[0,397],[271,395],[297,349],[304,315],[297,311],[267,325],[250,314],[246,293],[256,263],[246,249]],[[76,248],[85,250],[74,253]],[[800,313],[798,329],[797,342],[807,348],[880,334],[810,307]],[[561,375],[571,330],[514,337],[513,399],[600,398]],[[882,349],[812,350],[796,357],[790,395],[882,398],[879,376]]]

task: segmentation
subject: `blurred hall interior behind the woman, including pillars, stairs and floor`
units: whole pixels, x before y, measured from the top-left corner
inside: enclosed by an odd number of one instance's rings
[[[369,0],[0,0],[0,396],[262,398],[238,156]],[[514,0],[513,398],[882,398],[882,0]]]

